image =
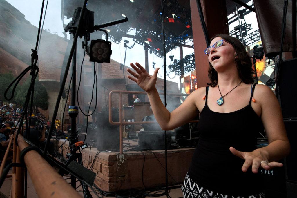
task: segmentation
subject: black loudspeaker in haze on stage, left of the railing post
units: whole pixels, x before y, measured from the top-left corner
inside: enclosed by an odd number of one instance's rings
[[[119,125],[111,125],[109,123],[109,112],[102,111],[97,113],[98,118],[98,133],[97,133],[97,149],[119,150],[120,127]],[[113,122],[119,122],[119,111],[112,110]]]

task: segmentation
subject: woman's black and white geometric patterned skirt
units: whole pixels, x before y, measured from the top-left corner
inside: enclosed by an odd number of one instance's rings
[[[216,193],[198,186],[197,183],[191,180],[188,173],[185,177],[184,183],[181,186],[181,190],[184,194],[184,198],[265,198],[264,193],[249,196],[234,196]]]

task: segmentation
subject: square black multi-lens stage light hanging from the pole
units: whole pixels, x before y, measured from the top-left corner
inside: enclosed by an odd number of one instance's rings
[[[102,39],[91,40],[88,52],[91,62],[110,63],[111,42]]]

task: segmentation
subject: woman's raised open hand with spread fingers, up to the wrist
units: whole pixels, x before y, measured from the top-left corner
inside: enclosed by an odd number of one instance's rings
[[[147,93],[154,90],[156,88],[157,74],[159,68],[155,70],[154,75],[149,75],[149,73],[139,63],[135,63],[135,65],[133,63],[130,63],[130,66],[136,71],[136,73],[128,68],[127,71],[133,77],[130,75],[128,75],[127,77],[137,83],[140,88],[142,88]]]

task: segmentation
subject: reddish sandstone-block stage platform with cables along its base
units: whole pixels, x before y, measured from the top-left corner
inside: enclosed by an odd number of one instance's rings
[[[61,146],[65,140],[59,140]],[[103,191],[165,186],[165,151],[129,151],[138,140],[124,139],[124,153],[98,151],[88,147],[81,151],[84,167],[95,172],[94,183]],[[127,145],[127,146],[125,146]],[[59,149],[66,159],[68,142]],[[168,184],[182,182],[189,170],[195,148],[167,151]],[[91,152],[90,152],[91,151]],[[68,150],[69,152],[69,150]],[[93,163],[94,162],[94,163]]]

